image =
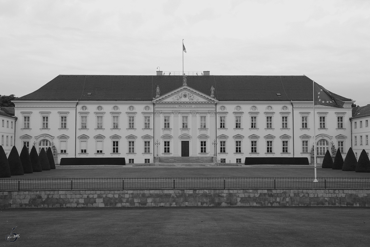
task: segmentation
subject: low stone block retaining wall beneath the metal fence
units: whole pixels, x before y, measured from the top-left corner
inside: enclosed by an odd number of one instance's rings
[[[370,207],[370,189],[0,191],[0,208],[176,206]]]

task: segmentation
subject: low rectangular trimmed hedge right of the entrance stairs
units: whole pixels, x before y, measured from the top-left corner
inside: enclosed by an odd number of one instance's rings
[[[245,165],[308,165],[308,158],[303,157],[246,157]]]

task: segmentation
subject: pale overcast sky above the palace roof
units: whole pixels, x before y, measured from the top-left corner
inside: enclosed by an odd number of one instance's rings
[[[59,74],[303,75],[370,103],[370,1],[0,0],[0,94]]]

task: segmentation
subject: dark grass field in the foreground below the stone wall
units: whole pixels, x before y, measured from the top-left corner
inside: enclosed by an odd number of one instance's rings
[[[1,210],[0,246],[369,246],[370,210],[157,207]],[[16,227],[20,237],[5,236]]]

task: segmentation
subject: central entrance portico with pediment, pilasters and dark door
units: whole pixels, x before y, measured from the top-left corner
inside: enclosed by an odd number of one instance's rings
[[[154,124],[157,126],[154,140],[161,142],[158,155],[213,156],[217,102],[213,97],[189,86],[182,86],[154,99]]]

